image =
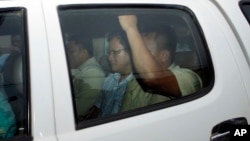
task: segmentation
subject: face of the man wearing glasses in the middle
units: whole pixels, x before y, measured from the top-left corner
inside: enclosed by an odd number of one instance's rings
[[[128,74],[131,70],[129,54],[124,50],[118,38],[114,37],[109,42],[109,61],[114,72]]]

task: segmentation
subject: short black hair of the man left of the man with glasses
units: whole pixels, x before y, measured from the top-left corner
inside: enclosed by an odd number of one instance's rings
[[[86,35],[75,34],[68,38],[68,42],[75,42],[79,48],[86,49],[88,54],[93,56],[93,42],[90,37]]]

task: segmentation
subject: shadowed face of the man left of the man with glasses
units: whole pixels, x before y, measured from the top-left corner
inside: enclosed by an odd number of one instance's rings
[[[86,60],[86,51],[79,48],[75,42],[68,43],[69,63],[71,69],[78,68]]]

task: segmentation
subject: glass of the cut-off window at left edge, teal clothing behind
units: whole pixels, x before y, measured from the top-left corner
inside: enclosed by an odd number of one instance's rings
[[[24,9],[0,9],[0,140],[28,133],[24,18]]]

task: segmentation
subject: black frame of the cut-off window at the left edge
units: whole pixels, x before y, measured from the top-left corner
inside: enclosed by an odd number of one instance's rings
[[[24,99],[25,102],[25,109],[24,109],[24,126],[26,129],[26,132],[21,135],[15,135],[11,138],[4,139],[4,141],[17,141],[17,140],[23,140],[23,141],[31,141],[33,140],[33,137],[31,136],[31,87],[30,87],[30,59],[29,59],[29,38],[28,38],[28,12],[25,7],[7,7],[7,8],[0,8],[0,13],[10,13],[10,12],[21,12],[22,13],[22,29],[21,32],[23,32],[23,45],[24,50],[21,53],[22,55],[22,79],[23,79],[23,92],[25,93],[26,97]]]

